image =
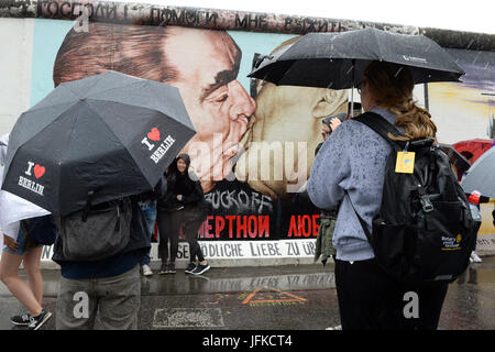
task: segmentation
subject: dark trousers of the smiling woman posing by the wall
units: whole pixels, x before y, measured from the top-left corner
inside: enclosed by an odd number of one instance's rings
[[[189,243],[190,261],[196,258],[199,262],[205,261],[201,248],[198,243],[198,230],[205,221],[204,217],[194,211],[194,209],[186,207],[176,211],[158,211],[158,256],[162,262],[168,258],[168,240],[170,241],[170,262],[175,263],[178,250],[179,230],[183,226],[184,234]]]

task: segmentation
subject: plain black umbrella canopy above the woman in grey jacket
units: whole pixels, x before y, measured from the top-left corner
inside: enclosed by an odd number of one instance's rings
[[[361,84],[373,61],[408,66],[415,84],[459,81],[464,70],[436,42],[364,29],[309,33],[285,51],[266,56],[249,75],[275,85],[346,89]]]

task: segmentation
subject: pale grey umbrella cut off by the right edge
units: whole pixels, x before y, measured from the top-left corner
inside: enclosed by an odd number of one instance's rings
[[[477,190],[482,196],[495,198],[495,147],[485,152],[471,166],[461,186],[466,194]]]

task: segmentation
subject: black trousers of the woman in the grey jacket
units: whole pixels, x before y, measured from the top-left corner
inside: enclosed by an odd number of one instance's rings
[[[389,278],[375,260],[336,260],[336,286],[343,330],[436,330],[448,284],[404,287]],[[404,309],[418,295],[418,318],[406,318]]]

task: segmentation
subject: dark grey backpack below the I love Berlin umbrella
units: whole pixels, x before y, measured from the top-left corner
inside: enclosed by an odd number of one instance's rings
[[[100,261],[122,251],[131,237],[129,198],[91,206],[55,218],[65,261]]]

